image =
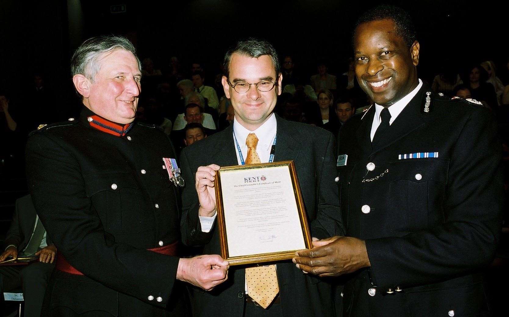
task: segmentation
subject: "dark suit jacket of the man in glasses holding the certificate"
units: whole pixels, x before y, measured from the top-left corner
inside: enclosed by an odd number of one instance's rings
[[[277,118],[275,161],[294,160],[312,236],[325,238],[343,235],[334,183],[334,137],[329,132],[306,124]],[[215,226],[202,232],[198,217],[198,197],[194,173],[199,166],[238,165],[232,136],[233,125],[184,148],[181,155],[183,192],[182,240],[190,246],[203,245],[204,253],[220,254]],[[246,241],[247,242],[247,241]],[[320,278],[302,274],[291,261],[277,263],[282,310],[287,316],[332,316],[331,286]],[[242,316],[244,309],[243,267],[231,267],[229,279],[212,292],[194,289],[197,316]]]

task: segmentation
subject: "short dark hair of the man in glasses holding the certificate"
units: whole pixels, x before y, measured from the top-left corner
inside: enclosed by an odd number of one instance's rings
[[[272,46],[272,44],[257,38],[248,38],[246,40],[238,41],[234,46],[228,49],[226,54],[224,54],[224,75],[227,77],[230,75],[230,62],[232,61],[232,55],[234,53],[239,53],[249,57],[269,55],[276,70],[276,78],[274,79],[277,82],[277,77],[279,77],[281,67],[279,66],[279,57],[277,56],[277,51],[274,46]]]

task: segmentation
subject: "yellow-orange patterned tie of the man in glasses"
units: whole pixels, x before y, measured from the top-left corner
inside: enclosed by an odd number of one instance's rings
[[[258,138],[256,134],[249,133],[246,138],[247,157],[246,164],[261,163],[256,152]],[[247,293],[263,308],[267,308],[279,293],[277,284],[276,266],[265,265],[246,268]]]

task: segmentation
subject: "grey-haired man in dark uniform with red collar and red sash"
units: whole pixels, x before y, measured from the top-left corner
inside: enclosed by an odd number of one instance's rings
[[[39,129],[26,151],[35,208],[59,249],[43,315],[182,315],[176,280],[210,290],[228,262],[176,256],[179,169],[163,167],[175,158],[164,132],[133,123],[135,49],[122,37],[92,38],[71,68],[79,119]]]

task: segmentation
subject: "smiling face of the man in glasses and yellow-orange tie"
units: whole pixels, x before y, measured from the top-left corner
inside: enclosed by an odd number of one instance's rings
[[[223,76],[221,83],[224,94],[230,98],[237,121],[250,131],[260,127],[270,116],[276,105],[277,96],[281,94],[282,76],[276,78],[276,70],[269,55],[249,57],[233,53],[230,61],[229,78]],[[277,87],[268,92],[259,91],[254,85],[243,94],[237,93],[228,83],[238,81],[257,83],[261,80],[277,81]]]

